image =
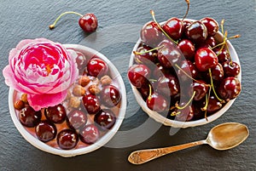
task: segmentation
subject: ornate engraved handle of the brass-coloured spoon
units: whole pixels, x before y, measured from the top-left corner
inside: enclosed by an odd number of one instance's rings
[[[154,158],[165,156],[166,154],[180,151],[192,146],[207,144],[206,140],[199,140],[183,145],[176,145],[176,146],[169,146],[164,148],[156,148],[156,149],[147,149],[147,150],[140,150],[140,151],[133,151],[131,152],[130,156],[128,157],[128,161],[132,164],[143,164],[144,162],[149,162]]]

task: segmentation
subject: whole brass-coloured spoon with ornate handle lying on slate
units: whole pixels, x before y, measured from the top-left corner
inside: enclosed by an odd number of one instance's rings
[[[207,140],[199,140],[184,145],[176,145],[165,148],[148,149],[131,152],[128,161],[132,164],[143,164],[157,157],[180,151],[192,146],[208,144],[212,148],[224,151],[240,145],[247,139],[249,131],[247,126],[241,123],[222,123],[211,129]]]

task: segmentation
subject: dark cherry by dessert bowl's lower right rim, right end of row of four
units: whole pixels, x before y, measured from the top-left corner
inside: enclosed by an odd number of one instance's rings
[[[94,117],[94,122],[102,130],[108,130],[113,127],[116,121],[116,117],[113,114],[113,111],[104,109],[96,114]]]

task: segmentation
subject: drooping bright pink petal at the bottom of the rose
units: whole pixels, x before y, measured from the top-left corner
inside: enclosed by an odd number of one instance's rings
[[[57,94],[27,94],[27,101],[35,111],[60,104],[67,97],[67,90]]]

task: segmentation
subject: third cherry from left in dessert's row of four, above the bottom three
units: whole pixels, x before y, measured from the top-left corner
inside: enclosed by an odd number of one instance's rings
[[[67,125],[69,128],[79,129],[87,123],[87,115],[84,111],[73,110],[67,115]]]

